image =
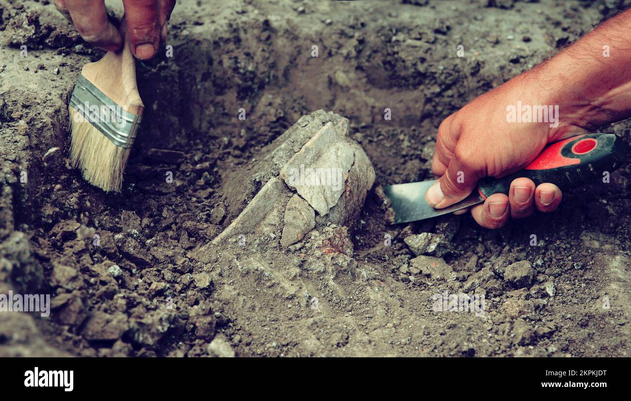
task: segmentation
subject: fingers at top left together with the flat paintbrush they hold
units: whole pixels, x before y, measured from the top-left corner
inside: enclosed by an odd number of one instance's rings
[[[103,0],[54,3],[86,42],[108,51],[83,67],[74,87],[68,107],[71,161],[88,182],[105,192],[120,192],[144,108],[134,57],[146,60],[156,54],[175,0],[123,0],[120,26],[107,15]]]

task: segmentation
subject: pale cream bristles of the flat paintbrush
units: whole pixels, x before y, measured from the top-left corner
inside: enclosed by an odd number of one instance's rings
[[[70,160],[83,178],[105,192],[121,192],[122,174],[130,149],[116,146],[101,131],[83,119],[73,107],[70,115]],[[78,116],[77,116],[78,115]]]

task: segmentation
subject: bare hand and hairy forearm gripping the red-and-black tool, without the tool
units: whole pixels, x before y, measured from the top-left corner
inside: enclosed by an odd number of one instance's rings
[[[475,190],[480,178],[521,170],[549,142],[631,117],[630,50],[631,11],[625,11],[447,117],[440,124],[432,161],[440,178],[425,200],[438,209],[450,206]],[[553,124],[551,119],[507,115],[520,104],[555,110]],[[481,226],[497,228],[509,216],[524,218],[535,208],[553,211],[561,199],[557,185],[535,186],[522,177],[512,182],[508,195],[491,195],[471,207],[471,214]]]

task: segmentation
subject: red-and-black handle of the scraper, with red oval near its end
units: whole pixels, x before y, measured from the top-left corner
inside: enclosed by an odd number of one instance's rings
[[[546,146],[526,168],[502,178],[487,177],[478,183],[480,195],[509,194],[515,178],[526,177],[534,185],[550,182],[560,189],[578,187],[611,173],[625,160],[627,145],[614,134],[584,134]]]

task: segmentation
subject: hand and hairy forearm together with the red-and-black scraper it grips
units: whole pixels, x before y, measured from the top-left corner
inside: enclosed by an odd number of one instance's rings
[[[631,117],[631,52],[628,35],[620,35],[630,31],[627,10],[449,115],[440,124],[432,162],[439,180],[384,188],[394,220],[471,206],[478,224],[498,228],[535,208],[553,211],[563,187],[618,168],[622,139],[587,133]],[[603,54],[603,44],[611,53]],[[459,173],[464,182],[457,181]]]

